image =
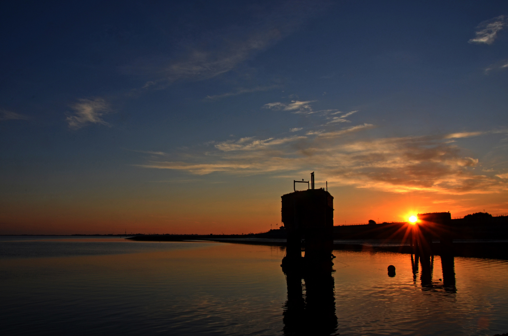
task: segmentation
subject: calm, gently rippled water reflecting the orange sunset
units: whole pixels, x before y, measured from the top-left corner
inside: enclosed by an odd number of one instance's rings
[[[320,282],[286,277],[280,247],[2,237],[2,334],[281,335],[302,321],[341,335],[508,332],[506,261],[334,255]]]

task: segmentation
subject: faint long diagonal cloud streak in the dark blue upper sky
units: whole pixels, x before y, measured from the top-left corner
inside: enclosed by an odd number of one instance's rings
[[[124,72],[152,77],[144,88],[164,88],[179,80],[205,80],[228,73],[253,55],[288,36],[299,25],[332,5],[331,2],[281,2],[266,6],[246,20],[217,31],[207,31],[182,45],[179,57],[141,60],[124,66]],[[254,10],[256,12],[256,10]],[[212,46],[212,47],[210,47]],[[152,64],[157,65],[152,65]]]

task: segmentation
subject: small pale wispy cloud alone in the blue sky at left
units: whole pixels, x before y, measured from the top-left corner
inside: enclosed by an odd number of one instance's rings
[[[103,98],[79,99],[71,108],[74,112],[66,120],[72,129],[79,129],[90,123],[109,126],[109,123],[102,119],[110,110],[109,104]]]

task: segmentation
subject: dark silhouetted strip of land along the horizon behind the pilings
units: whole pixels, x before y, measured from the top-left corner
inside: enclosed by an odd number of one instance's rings
[[[320,189],[316,189],[320,190]],[[446,214],[446,213],[444,213]],[[373,221],[372,221],[373,222]],[[409,222],[393,223],[370,223],[362,225],[333,226],[334,240],[340,240],[333,244],[335,250],[352,251],[387,251],[398,253],[414,253],[409,244],[407,228]],[[421,224],[423,226],[425,224]],[[496,240],[508,240],[508,216],[493,217],[488,213],[475,213],[464,218],[450,219],[448,223],[440,223],[439,230],[430,233],[427,237],[430,251],[434,255],[444,255],[440,238],[445,233],[448,250],[451,254],[459,257],[481,257],[508,259],[508,243],[496,242]],[[438,235],[439,233],[439,235]],[[90,235],[96,236],[96,235]],[[108,235],[111,236],[111,235]],[[122,235],[125,236],[125,235]],[[262,233],[251,234],[137,234],[128,239],[137,241],[189,241],[207,240],[217,242],[230,242],[241,244],[260,244],[286,246],[288,229],[281,226]],[[301,248],[305,250],[305,235],[302,236]],[[399,246],[370,246],[368,240],[395,241]],[[489,240],[488,242],[482,240]],[[355,241],[348,243],[348,241]],[[358,242],[360,241],[360,242]],[[367,241],[361,243],[361,241]],[[439,241],[439,242],[438,242]]]

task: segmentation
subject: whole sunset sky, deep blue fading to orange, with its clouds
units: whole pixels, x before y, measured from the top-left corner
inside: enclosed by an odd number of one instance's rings
[[[508,2],[0,4],[0,234],[508,213]],[[303,184],[299,186],[303,188]]]

